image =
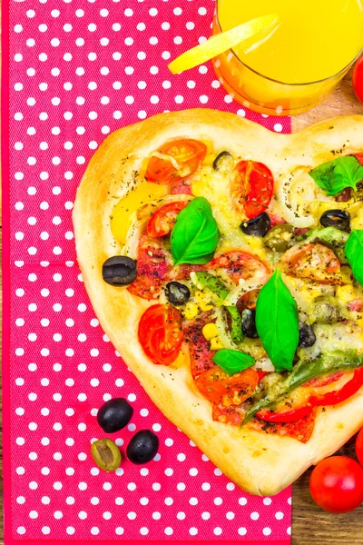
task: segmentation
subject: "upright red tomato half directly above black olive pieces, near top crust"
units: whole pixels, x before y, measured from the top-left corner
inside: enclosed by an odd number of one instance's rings
[[[263,163],[240,161],[231,173],[231,197],[238,212],[249,219],[268,208],[273,194],[273,175]]]

